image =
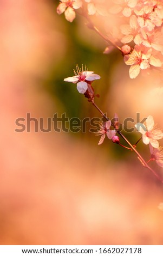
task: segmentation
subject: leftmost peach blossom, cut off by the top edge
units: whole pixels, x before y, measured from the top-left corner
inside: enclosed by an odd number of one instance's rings
[[[82,7],[82,0],[60,0],[60,2],[57,7],[57,14],[64,13],[66,20],[72,22],[76,16],[74,9]]]

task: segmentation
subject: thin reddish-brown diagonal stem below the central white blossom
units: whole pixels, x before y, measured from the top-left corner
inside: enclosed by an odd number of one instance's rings
[[[109,121],[109,119],[106,117],[106,115],[101,111],[101,109],[96,105],[95,102],[92,101],[93,106],[97,109],[97,111],[100,112],[100,114],[102,115],[103,118],[105,118],[107,121]],[[114,126],[114,124],[112,123],[112,125]],[[128,139],[119,131],[116,130],[116,132],[124,139],[124,141],[126,141],[126,143],[129,145],[129,147],[134,151],[134,153],[138,156],[139,161],[141,162],[142,166],[144,166],[145,168],[148,168],[149,170],[151,170],[151,172],[157,177],[158,180],[161,181],[161,183],[163,183],[163,180],[161,179],[161,177],[150,167],[148,166],[148,164],[146,163],[146,161],[144,160],[144,158],[139,154],[139,152],[135,149],[134,145],[132,145]],[[140,140],[140,139],[139,139]],[[137,142],[138,143],[138,142]]]

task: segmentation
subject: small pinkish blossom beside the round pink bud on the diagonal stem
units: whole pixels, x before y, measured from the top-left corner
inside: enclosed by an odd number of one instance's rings
[[[113,136],[115,136],[116,131],[115,130],[109,130],[111,126],[111,121],[107,121],[107,122],[101,122],[100,123],[100,130],[97,131],[96,135],[101,135],[100,141],[98,143],[98,145],[102,144],[106,135],[108,137],[108,139],[112,139]]]

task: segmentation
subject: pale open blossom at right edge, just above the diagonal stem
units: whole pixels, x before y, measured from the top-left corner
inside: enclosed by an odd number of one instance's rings
[[[146,125],[137,123],[136,129],[142,134],[142,141],[144,144],[151,144],[153,148],[159,148],[158,140],[163,138],[163,132],[154,126],[154,120],[152,115],[149,115],[146,119]]]

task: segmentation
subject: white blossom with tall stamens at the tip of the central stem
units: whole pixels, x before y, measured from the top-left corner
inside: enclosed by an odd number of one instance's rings
[[[86,66],[85,70],[80,69],[78,65],[76,65],[76,71],[74,70],[75,76],[67,77],[64,79],[65,82],[77,83],[77,90],[79,93],[86,93],[88,88],[88,83],[91,83],[94,80],[100,79],[99,75],[94,74],[94,71],[88,71]]]

